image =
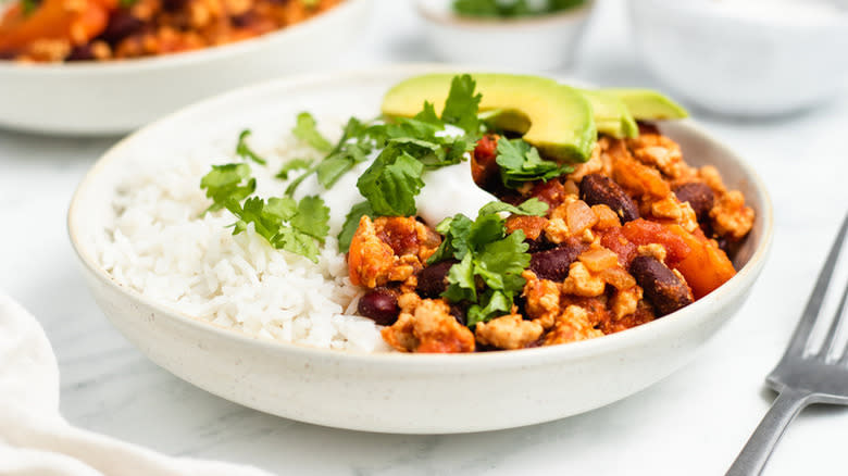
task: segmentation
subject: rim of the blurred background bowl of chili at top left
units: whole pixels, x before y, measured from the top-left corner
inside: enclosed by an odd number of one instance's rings
[[[212,60],[238,57],[246,51],[259,48],[263,43],[274,42],[286,36],[298,35],[310,28],[320,28],[324,22],[332,21],[336,16],[345,15],[348,10],[353,10],[373,0],[345,0],[336,7],[320,13],[311,18],[290,26],[278,28],[265,35],[234,41],[225,45],[216,45],[199,50],[182,51],[177,53],[162,54],[159,57],[144,57],[127,60],[104,62],[71,62],[71,63],[25,63],[16,61],[0,61],[0,75],[20,71],[37,72],[38,74],[78,74],[78,75],[111,75],[126,74],[147,70],[184,67]],[[0,9],[2,12],[2,9]],[[273,59],[270,59],[273,60]]]

